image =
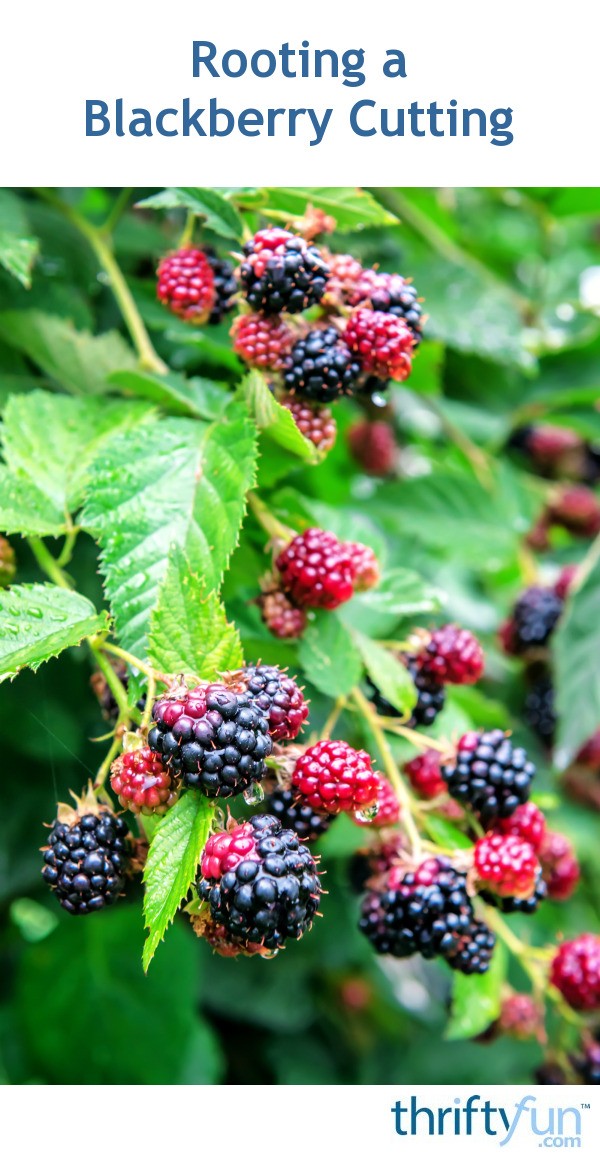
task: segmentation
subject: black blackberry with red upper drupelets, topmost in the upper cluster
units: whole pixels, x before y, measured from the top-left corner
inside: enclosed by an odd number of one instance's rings
[[[329,266],[316,245],[286,229],[261,229],[243,248],[240,279],[251,309],[299,314],[325,292]]]

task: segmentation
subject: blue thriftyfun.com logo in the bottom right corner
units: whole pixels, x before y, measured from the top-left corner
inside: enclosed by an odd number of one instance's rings
[[[396,1134],[423,1134],[456,1137],[486,1134],[496,1137],[500,1146],[508,1145],[515,1135],[537,1142],[539,1146],[559,1150],[581,1145],[581,1108],[577,1106],[537,1105],[535,1094],[528,1093],[514,1106],[496,1106],[478,1093],[463,1100],[454,1098],[452,1106],[420,1105],[415,1094],[410,1101],[396,1101],[392,1107]]]

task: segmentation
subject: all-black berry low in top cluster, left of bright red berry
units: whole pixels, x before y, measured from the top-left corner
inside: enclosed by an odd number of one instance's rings
[[[292,346],[284,382],[290,394],[312,402],[334,402],[353,393],[359,374],[360,362],[330,325],[309,330]]]

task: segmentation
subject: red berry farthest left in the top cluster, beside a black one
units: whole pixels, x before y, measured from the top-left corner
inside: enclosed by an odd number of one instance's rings
[[[156,296],[173,314],[193,325],[208,321],[217,294],[214,276],[202,249],[178,249],[159,265]]]

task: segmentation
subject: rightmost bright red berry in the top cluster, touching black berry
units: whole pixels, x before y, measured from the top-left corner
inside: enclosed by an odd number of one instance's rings
[[[375,309],[354,309],[344,334],[365,374],[404,382],[412,369],[415,339],[405,322]]]

